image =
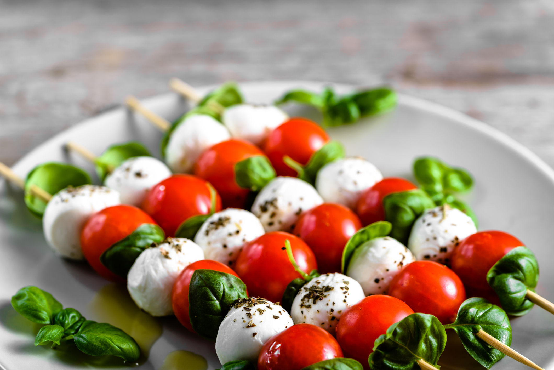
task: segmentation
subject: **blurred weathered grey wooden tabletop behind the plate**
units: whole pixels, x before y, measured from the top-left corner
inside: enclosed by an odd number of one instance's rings
[[[388,84],[554,166],[553,24],[551,0],[0,0],[0,161],[177,76]]]

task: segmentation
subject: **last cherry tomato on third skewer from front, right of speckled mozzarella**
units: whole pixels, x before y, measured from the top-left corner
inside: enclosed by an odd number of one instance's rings
[[[453,323],[465,289],[458,275],[433,261],[415,261],[391,280],[388,294],[406,303],[414,312],[436,316],[443,325]]]

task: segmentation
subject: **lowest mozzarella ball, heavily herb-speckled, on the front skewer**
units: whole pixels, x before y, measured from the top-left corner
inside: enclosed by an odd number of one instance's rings
[[[240,299],[219,325],[216,338],[219,362],[256,363],[265,341],[292,325],[293,319],[278,304],[254,297]]]

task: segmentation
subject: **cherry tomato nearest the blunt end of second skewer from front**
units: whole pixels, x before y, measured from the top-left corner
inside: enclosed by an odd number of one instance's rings
[[[208,182],[189,174],[174,174],[150,189],[142,209],[150,214],[173,237],[179,225],[189,217],[208,214],[212,208]],[[216,196],[216,212],[221,210],[221,198]]]

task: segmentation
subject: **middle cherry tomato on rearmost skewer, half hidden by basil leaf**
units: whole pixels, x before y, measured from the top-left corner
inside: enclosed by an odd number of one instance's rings
[[[388,194],[405,192],[416,188],[414,184],[403,178],[384,178],[371,188],[363,191],[356,205],[356,213],[364,226],[377,221],[384,221],[383,198],[388,196]]]

